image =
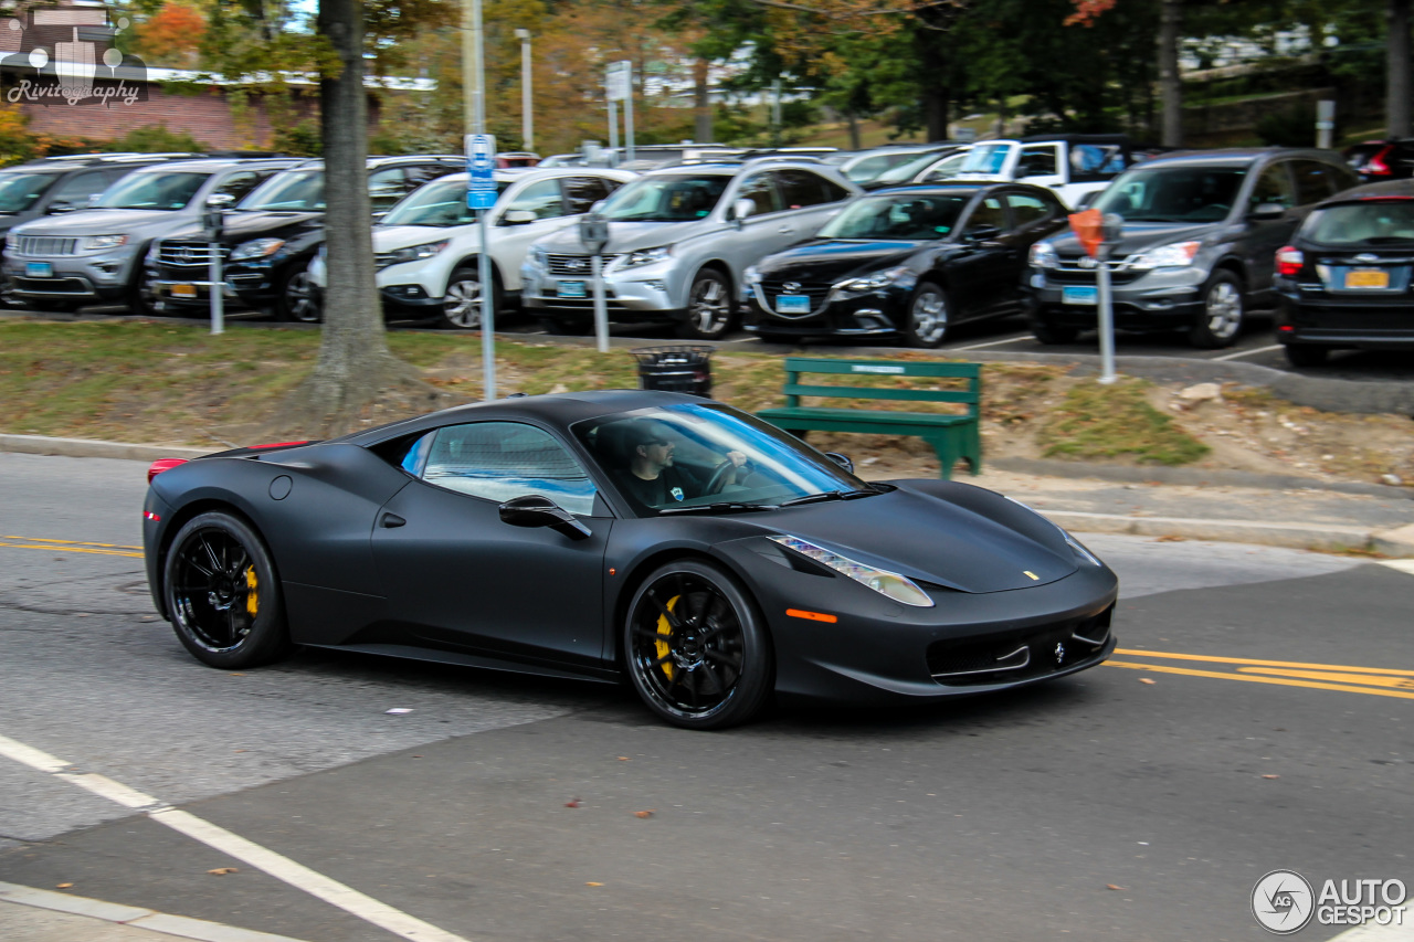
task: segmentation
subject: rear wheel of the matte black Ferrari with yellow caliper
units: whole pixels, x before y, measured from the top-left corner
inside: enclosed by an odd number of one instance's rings
[[[163,601],[177,639],[212,668],[255,668],[290,648],[270,552],[232,513],[201,513],[177,532],[163,564]]]

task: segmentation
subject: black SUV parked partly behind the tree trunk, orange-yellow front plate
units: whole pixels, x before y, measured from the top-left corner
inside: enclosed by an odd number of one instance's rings
[[[375,215],[387,212],[428,180],[465,170],[460,154],[369,157],[368,187]],[[280,320],[318,321],[318,296],[307,269],[324,243],[324,161],[276,174],[226,214],[221,242],[228,297]],[[209,307],[211,249],[197,225],[153,243],[148,284],[168,313],[201,315]]]

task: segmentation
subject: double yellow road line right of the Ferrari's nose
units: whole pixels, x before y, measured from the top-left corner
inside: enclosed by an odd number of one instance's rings
[[[1332,663],[1301,663],[1298,661],[1258,661],[1256,658],[1219,658],[1216,655],[1185,655],[1162,651],[1135,651],[1116,648],[1116,655],[1124,658],[1145,658],[1134,661],[1106,661],[1110,668],[1148,670],[1152,673],[1182,673],[1191,678],[1217,678],[1219,680],[1246,680],[1249,683],[1275,683],[1284,687],[1311,687],[1315,690],[1340,690],[1342,693],[1367,693],[1377,697],[1398,697],[1414,700],[1414,670],[1397,668],[1353,668]],[[1199,663],[1225,665],[1227,670],[1198,670],[1178,668],[1152,661],[1196,661]]]

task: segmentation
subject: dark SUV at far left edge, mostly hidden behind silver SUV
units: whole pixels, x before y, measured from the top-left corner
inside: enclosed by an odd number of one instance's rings
[[[0,236],[31,219],[86,209],[109,184],[140,167],[194,157],[204,154],[74,154],[6,167],[0,170]],[[21,300],[4,276],[0,276],[0,303],[59,310],[74,306],[66,298]]]

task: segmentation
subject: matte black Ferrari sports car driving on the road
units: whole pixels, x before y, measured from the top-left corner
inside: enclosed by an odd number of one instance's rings
[[[153,598],[225,669],[290,645],[598,680],[724,727],[1100,663],[1117,581],[1021,504],[865,484],[730,406],[612,390],[156,464]]]

